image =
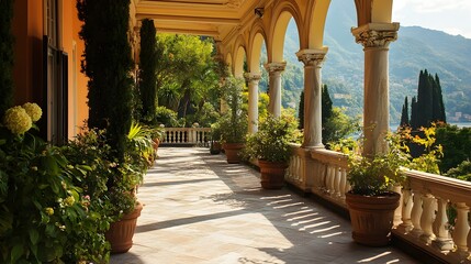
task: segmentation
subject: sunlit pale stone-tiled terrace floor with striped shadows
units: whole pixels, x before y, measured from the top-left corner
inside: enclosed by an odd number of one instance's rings
[[[112,264],[418,263],[394,248],[351,241],[350,223],[208,148],[160,147],[138,198],[134,246]]]

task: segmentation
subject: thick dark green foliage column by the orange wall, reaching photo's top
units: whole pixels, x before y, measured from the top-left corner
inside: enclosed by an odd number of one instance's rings
[[[133,101],[130,0],[78,0],[77,9],[83,22],[79,33],[85,42],[81,66],[89,78],[88,127],[105,129],[112,155],[123,161]]]

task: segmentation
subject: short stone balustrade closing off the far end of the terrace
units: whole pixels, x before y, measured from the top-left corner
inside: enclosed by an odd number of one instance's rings
[[[165,128],[161,144],[205,145],[210,140],[211,128]]]

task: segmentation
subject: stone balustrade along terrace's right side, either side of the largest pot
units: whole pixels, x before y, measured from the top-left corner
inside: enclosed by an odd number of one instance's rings
[[[406,169],[394,216],[394,235],[448,263],[471,263],[471,183]],[[324,148],[292,145],[285,180],[347,208],[347,157]]]

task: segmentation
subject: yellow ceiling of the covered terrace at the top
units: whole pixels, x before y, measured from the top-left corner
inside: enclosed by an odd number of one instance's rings
[[[136,16],[154,19],[157,32],[213,36],[224,41],[255,16],[260,0],[136,0]]]

